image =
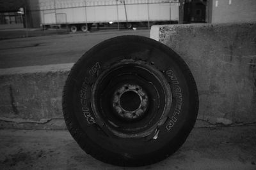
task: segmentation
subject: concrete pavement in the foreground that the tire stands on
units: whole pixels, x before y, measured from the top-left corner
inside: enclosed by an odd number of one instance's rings
[[[256,124],[194,128],[172,156],[150,166],[104,164],[68,131],[0,130],[0,169],[256,169]]]

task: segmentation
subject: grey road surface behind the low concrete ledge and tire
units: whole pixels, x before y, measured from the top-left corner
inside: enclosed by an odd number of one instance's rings
[[[0,41],[0,68],[76,62],[92,46],[122,35],[149,37],[149,31],[101,31],[4,39]]]

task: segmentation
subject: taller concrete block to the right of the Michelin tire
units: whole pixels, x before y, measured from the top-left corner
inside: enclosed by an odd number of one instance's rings
[[[209,124],[256,122],[256,23],[154,25],[150,38],[187,62]]]

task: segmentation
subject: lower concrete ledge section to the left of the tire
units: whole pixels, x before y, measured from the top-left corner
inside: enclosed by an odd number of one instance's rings
[[[0,127],[65,129],[61,94],[72,65],[0,69]]]

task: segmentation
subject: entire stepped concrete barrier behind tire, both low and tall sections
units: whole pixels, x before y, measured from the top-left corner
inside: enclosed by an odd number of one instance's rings
[[[156,25],[150,36],[179,53],[195,76],[196,126],[256,122],[256,24]],[[72,65],[0,69],[0,127],[66,129],[61,92]]]

